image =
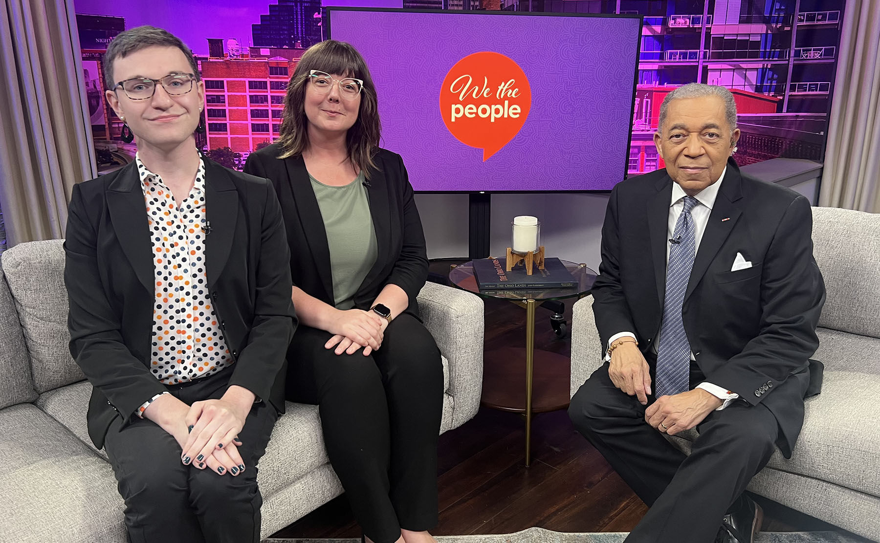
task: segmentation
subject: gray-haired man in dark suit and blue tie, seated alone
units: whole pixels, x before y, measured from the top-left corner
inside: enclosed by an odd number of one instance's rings
[[[739,172],[736,122],[722,87],[671,92],[654,135],[666,168],[608,202],[592,289],[606,363],[568,413],[650,506],[630,543],[751,542],[744,489],[803,424],[825,302],[810,202]],[[694,427],[689,456],[663,436]]]

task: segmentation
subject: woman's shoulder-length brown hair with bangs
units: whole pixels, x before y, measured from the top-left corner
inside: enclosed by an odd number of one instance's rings
[[[309,84],[312,70],[363,79],[360,111],[355,124],[348,128],[345,143],[348,159],[370,179],[370,173],[378,170],[373,158],[378,152],[382,132],[376,85],[373,84],[363,56],[354,46],[344,41],[321,41],[309,48],[299,59],[297,70],[290,76],[287,95],[284,97],[284,114],[278,137],[281,155],[278,158],[301,155],[309,147],[309,120],[305,117],[304,101],[305,88]]]

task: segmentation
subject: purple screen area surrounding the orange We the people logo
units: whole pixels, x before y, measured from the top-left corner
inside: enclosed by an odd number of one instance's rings
[[[334,40],[366,59],[382,146],[400,153],[417,191],[610,190],[626,172],[637,18],[330,10]],[[439,111],[451,67],[479,51],[525,72],[532,110],[488,161],[458,142]]]

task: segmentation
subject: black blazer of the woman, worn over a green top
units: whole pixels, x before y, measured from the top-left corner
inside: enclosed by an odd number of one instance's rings
[[[275,185],[293,255],[293,283],[309,296],[334,305],[330,249],[309,172],[302,156],[279,159],[280,152],[278,144],[273,144],[251,153],[245,172],[265,177]],[[355,305],[369,310],[385,285],[393,283],[407,293],[407,312],[418,318],[415,297],[428,278],[422,219],[415,209],[413,187],[400,155],[380,149],[376,163],[379,171],[370,175],[367,193],[378,256],[355,293]]]

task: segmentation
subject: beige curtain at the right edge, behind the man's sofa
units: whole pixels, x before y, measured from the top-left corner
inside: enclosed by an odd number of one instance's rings
[[[819,205],[880,213],[880,2],[843,18]]]

